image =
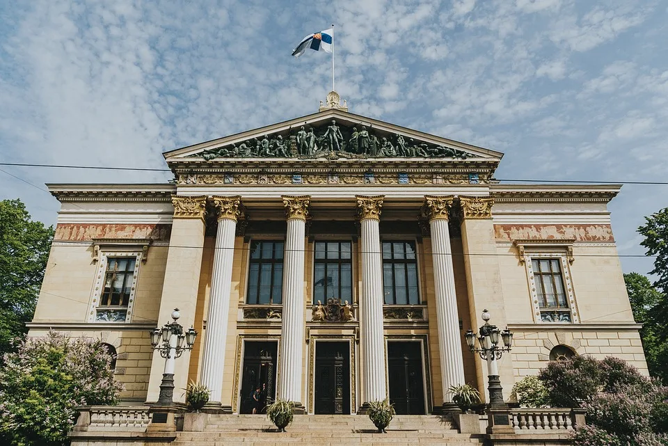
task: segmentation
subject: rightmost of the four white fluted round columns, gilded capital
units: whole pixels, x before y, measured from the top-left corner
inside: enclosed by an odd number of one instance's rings
[[[452,248],[447,212],[454,197],[426,196],[431,228],[431,256],[434,264],[434,289],[436,294],[436,324],[438,328],[438,351],[440,353],[440,378],[443,383],[443,407],[455,408],[451,385],[464,381],[464,363],[461,353],[461,333],[457,313],[457,294],[454,288]]]

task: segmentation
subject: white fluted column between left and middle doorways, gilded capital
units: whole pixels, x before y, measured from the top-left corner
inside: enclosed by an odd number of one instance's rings
[[[304,413],[301,403],[303,381],[304,250],[309,196],[281,196],[287,216],[287,236],[283,255],[283,314],[278,365],[278,397],[294,401],[296,413]]]

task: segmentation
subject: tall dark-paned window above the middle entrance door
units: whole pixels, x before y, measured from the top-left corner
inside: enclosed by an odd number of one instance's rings
[[[326,303],[331,298],[352,303],[351,246],[350,241],[315,242],[313,303]]]

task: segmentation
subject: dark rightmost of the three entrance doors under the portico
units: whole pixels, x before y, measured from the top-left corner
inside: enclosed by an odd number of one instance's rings
[[[390,402],[398,415],[424,415],[420,342],[388,342]]]

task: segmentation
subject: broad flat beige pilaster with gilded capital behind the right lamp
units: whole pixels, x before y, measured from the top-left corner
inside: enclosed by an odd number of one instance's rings
[[[459,197],[463,214],[461,223],[461,245],[466,269],[468,307],[472,329],[480,326],[482,310],[489,310],[494,324],[500,329],[506,326],[506,309],[501,283],[498,250],[492,221],[491,197]],[[513,260],[515,262],[515,260]],[[515,383],[511,355],[505,354],[498,363],[501,383],[509,396]],[[475,355],[475,368],[481,396],[486,397],[487,367],[485,361]],[[486,399],[486,398],[485,398]],[[488,399],[487,399],[488,401]]]

